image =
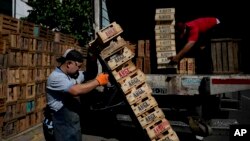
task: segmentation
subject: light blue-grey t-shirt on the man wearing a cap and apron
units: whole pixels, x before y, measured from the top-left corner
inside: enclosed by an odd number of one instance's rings
[[[68,90],[75,84],[80,84],[84,81],[83,71],[79,71],[77,79],[63,73],[59,68],[56,68],[48,77],[46,85],[47,104],[54,111],[60,110],[64,105],[64,99],[69,95]]]

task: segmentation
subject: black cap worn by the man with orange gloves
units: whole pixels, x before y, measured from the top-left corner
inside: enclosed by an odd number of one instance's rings
[[[64,63],[67,60],[83,62],[83,56],[79,51],[75,49],[67,49],[64,52],[63,56],[56,59],[56,61],[59,63]]]

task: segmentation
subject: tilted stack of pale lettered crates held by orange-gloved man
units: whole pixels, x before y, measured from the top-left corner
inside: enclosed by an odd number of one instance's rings
[[[149,139],[178,141],[178,136],[152,96],[152,89],[146,83],[145,74],[132,62],[135,53],[127,47],[127,42],[118,36],[122,31],[114,22],[97,32],[99,38],[96,40],[103,46],[99,49],[100,57],[110,68],[109,73],[114,77],[114,81],[121,86],[121,93]],[[93,48],[93,45],[91,42],[90,48]]]

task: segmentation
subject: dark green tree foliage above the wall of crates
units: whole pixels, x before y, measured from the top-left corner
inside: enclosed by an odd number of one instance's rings
[[[79,42],[86,44],[93,31],[91,2],[91,0],[29,0],[28,5],[32,10],[25,20],[74,35]]]

